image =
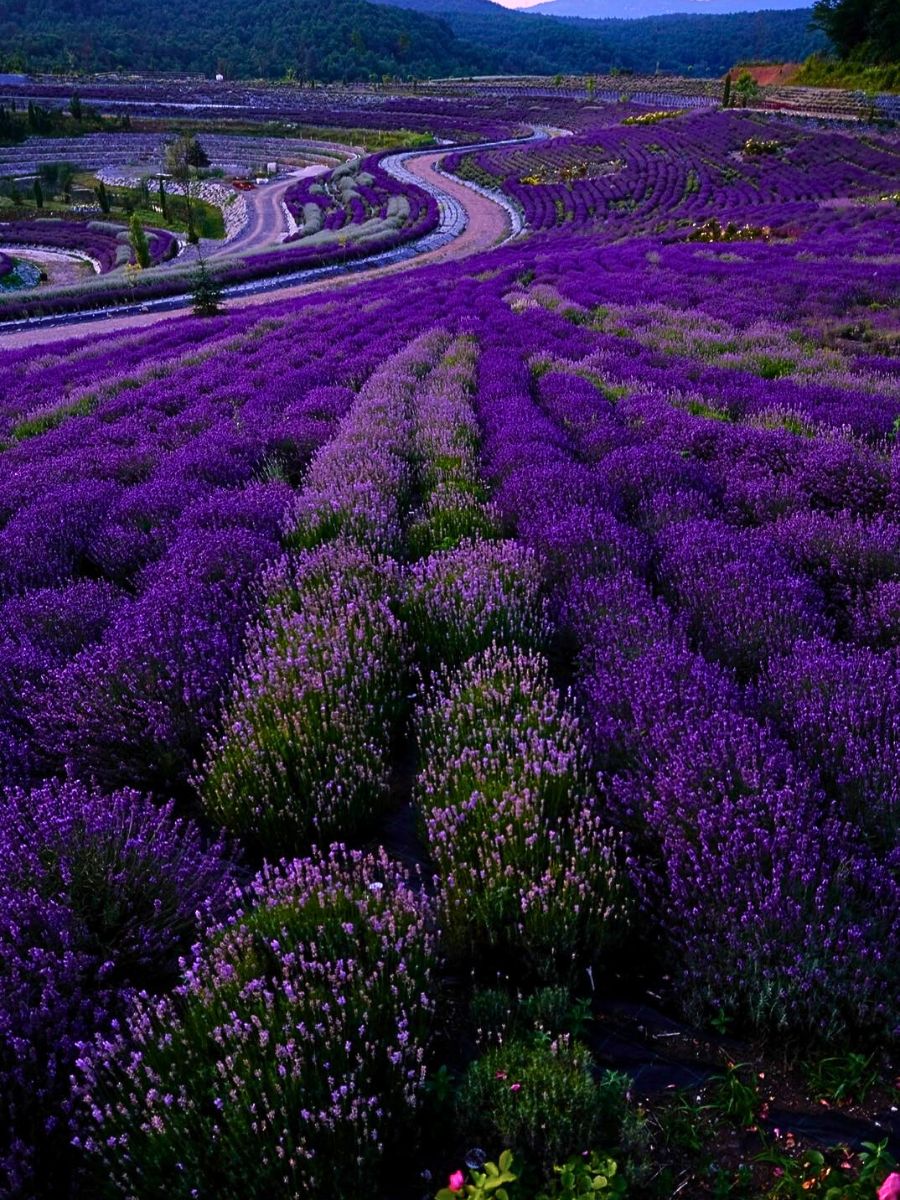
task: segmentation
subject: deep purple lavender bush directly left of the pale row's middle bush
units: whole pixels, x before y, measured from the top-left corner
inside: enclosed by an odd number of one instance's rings
[[[250,529],[188,529],[102,641],[25,694],[36,745],[107,786],[182,788],[212,727],[277,542]]]

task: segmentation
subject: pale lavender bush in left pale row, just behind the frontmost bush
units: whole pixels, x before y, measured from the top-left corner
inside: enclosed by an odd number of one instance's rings
[[[402,697],[395,592],[390,563],[340,541],[264,574],[265,612],[209,746],[211,820],[276,852],[371,821]]]

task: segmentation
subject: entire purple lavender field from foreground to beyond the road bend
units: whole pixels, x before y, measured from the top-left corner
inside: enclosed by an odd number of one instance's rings
[[[515,236],[0,336],[4,1198],[894,1170],[900,137],[592,98],[446,102]]]

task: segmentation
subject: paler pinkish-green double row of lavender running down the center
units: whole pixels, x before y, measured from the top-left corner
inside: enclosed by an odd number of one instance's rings
[[[388,797],[391,726],[404,666],[418,659],[415,791],[438,870],[434,910],[421,895],[404,899],[409,884],[384,859],[358,860],[358,890],[334,859],[326,888],[316,858],[264,872],[250,911],[210,930],[176,1003],[140,998],[125,1031],[79,1061],[77,1100],[92,1118],[79,1144],[125,1193],[166,1189],[175,1158],[187,1189],[215,1180],[224,1195],[371,1187],[421,1099],[437,949],[422,931],[434,916],[446,949],[469,964],[509,949],[539,977],[574,972],[620,936],[622,856],[571,702],[533,648],[550,636],[538,562],[494,540],[484,498],[475,365],[470,336],[418,338],[372,376],[317,454],[286,518],[294,548],[263,577],[263,614],[200,779],[206,811],[270,852],[359,830]],[[313,904],[314,953],[304,934]],[[410,943],[397,930],[413,912]],[[374,970],[370,922],[391,934]],[[263,946],[271,965],[258,960]],[[349,970],[331,976],[344,946]],[[386,989],[389,970],[400,988]],[[318,980],[336,988],[334,1019],[331,1003],[311,1007],[323,1003]],[[260,1045],[283,1064],[280,1079],[259,1070]],[[323,1052],[338,1066],[317,1082],[312,1062]],[[198,1087],[210,1070],[211,1121]],[[350,1156],[338,1157],[347,1144]]]

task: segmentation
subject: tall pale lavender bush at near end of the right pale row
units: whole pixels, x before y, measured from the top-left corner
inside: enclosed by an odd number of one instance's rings
[[[415,794],[448,943],[571,976],[622,937],[626,882],[546,661],[492,647],[439,678],[416,715]]]

